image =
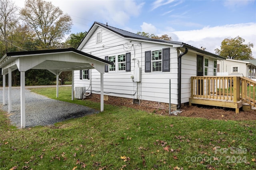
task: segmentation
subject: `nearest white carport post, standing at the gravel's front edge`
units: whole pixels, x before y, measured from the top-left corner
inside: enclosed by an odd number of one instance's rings
[[[25,119],[25,72],[20,72],[20,122],[21,128],[26,127]]]

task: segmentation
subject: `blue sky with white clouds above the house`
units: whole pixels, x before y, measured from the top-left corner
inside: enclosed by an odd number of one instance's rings
[[[254,44],[255,0],[47,0],[73,19],[71,33],[88,31],[94,21],[133,33],[168,34],[173,41],[215,53],[223,39],[240,36]],[[25,0],[15,0],[22,8]]]

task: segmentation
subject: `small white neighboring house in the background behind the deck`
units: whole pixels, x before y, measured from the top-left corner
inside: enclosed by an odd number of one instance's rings
[[[251,63],[251,60],[241,61],[226,59],[222,61],[217,61],[218,74],[222,76],[244,76],[248,78],[256,78],[255,69],[256,64]]]

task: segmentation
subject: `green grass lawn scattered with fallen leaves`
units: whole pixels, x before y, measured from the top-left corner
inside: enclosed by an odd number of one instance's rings
[[[56,98],[55,88],[32,89]],[[59,100],[100,109],[99,103]],[[76,119],[17,129],[0,113],[0,169],[256,169],[256,122],[163,116],[104,105]]]

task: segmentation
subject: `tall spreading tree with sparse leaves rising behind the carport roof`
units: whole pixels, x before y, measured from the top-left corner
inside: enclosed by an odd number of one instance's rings
[[[44,0],[26,0],[20,15],[36,33],[41,49],[54,49],[72,27],[68,14]]]

